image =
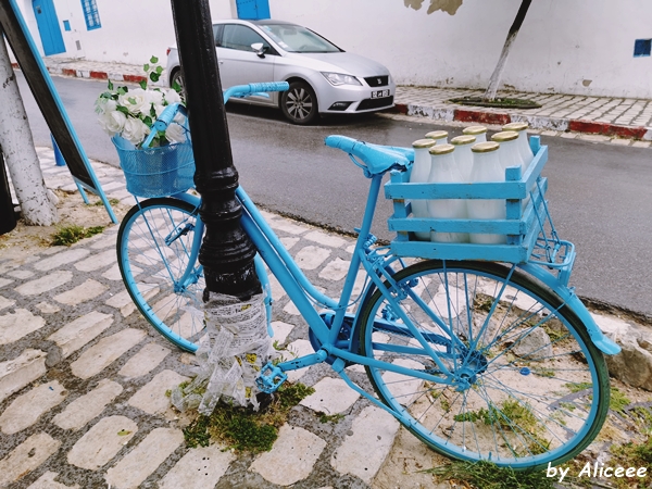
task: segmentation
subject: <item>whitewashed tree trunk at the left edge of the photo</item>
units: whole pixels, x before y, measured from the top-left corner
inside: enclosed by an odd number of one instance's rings
[[[1,37],[1,36],[0,36]],[[0,146],[25,222],[51,226],[59,221],[34,149],[25,105],[18,91],[4,39],[0,39]]]

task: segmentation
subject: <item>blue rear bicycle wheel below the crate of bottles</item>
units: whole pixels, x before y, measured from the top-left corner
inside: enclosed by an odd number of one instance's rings
[[[361,350],[438,378],[366,367],[379,399],[430,448],[536,469],[598,435],[610,398],[604,358],[548,287],[487,262],[424,261],[393,278],[394,305],[379,290],[363,305]]]

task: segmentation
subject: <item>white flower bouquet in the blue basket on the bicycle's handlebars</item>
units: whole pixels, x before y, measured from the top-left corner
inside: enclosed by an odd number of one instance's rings
[[[143,66],[147,79],[138,88],[117,87],[109,82],[95,106],[102,129],[111,136],[125,173],[127,190],[139,197],[163,197],[192,187],[195,160],[186,117],[178,113],[165,130],[153,136],[151,145],[143,141],[154,129],[154,123],[167,105],[183,101],[174,89],[149,88],[158,82],[163,68],[154,57]]]

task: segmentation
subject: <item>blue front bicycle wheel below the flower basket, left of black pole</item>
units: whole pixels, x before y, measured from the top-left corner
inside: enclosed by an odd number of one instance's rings
[[[162,198],[131,208],[117,233],[117,263],[136,306],[166,339],[190,352],[204,329],[198,229],[203,225],[193,205]]]

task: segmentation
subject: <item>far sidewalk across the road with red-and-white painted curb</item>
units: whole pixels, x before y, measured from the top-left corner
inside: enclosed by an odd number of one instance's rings
[[[140,65],[60,58],[46,58],[43,61],[53,75],[131,83],[145,79]],[[165,74],[162,79],[165,79]],[[502,126],[527,121],[532,131],[541,131],[544,136],[581,136],[593,142],[641,148],[652,145],[652,100],[510,91],[499,96],[527,98],[542,106],[529,110],[488,109],[447,102],[452,98],[482,93],[482,90],[397,87],[394,110],[400,114],[441,123]]]

